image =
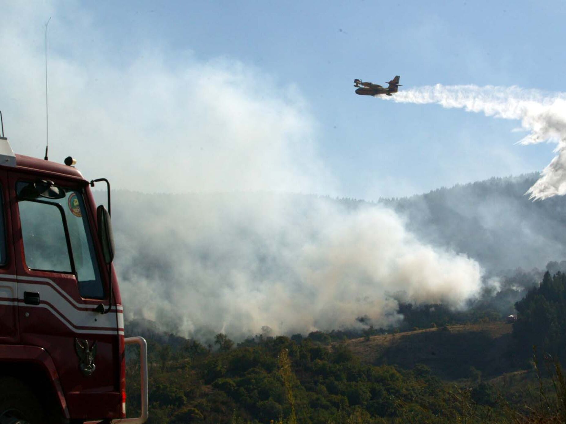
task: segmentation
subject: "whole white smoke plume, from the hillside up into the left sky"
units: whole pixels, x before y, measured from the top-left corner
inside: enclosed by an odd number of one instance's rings
[[[145,194],[141,203],[115,194],[127,310],[184,335],[242,337],[265,325],[277,333],[349,327],[362,315],[389,323],[393,293],[458,307],[479,292],[477,262],[420,243],[392,211],[300,207],[266,193],[336,187],[293,86],[237,60],[167,55],[155,45],[132,46],[131,59],[110,63],[113,46],[91,18],[74,3],[64,12],[58,19],[57,3],[6,7],[0,99],[14,150],[44,152],[42,25],[52,15],[51,158],[72,154],[88,178],[102,174],[118,188],[233,193],[228,202]]]

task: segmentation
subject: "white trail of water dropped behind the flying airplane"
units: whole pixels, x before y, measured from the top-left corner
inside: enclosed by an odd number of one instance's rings
[[[385,98],[385,96],[383,96]],[[557,144],[556,157],[527,192],[532,199],[566,194],[566,94],[546,94],[518,87],[451,85],[423,86],[387,97],[403,103],[438,103],[443,107],[483,112],[495,118],[521,120],[529,135],[519,144]]]

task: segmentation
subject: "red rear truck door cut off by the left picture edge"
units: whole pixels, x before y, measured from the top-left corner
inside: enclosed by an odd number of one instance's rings
[[[0,344],[18,343],[18,292],[6,171],[0,171]]]

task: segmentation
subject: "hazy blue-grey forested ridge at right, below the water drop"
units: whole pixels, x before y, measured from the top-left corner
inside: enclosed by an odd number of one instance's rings
[[[535,173],[492,178],[382,202],[422,241],[465,252],[488,275],[500,275],[566,257],[566,199],[530,201],[524,193],[537,179]]]

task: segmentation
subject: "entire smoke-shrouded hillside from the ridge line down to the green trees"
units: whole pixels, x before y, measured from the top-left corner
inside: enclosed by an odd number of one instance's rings
[[[566,257],[566,199],[529,201],[523,193],[536,178],[378,205],[118,191],[113,221],[126,311],[201,339],[218,331],[239,339],[263,326],[306,334],[395,325],[398,301],[457,308],[479,296],[479,304],[512,313],[545,266],[566,269],[549,263]]]

